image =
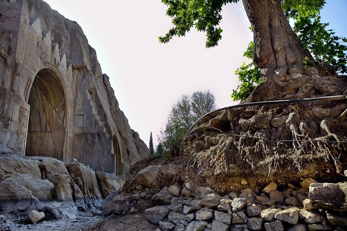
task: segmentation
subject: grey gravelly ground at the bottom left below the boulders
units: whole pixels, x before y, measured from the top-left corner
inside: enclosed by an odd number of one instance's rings
[[[78,212],[77,218],[71,219],[52,219],[45,217],[38,224],[33,224],[26,216],[16,216],[7,213],[0,213],[0,231],[84,231],[92,226],[93,222],[104,218],[101,212]]]

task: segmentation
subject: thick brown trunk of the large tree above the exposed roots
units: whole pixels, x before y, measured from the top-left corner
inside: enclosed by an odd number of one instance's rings
[[[280,0],[243,0],[243,5],[253,26],[253,61],[264,75],[279,68],[285,73],[294,67],[303,70],[303,59],[311,55],[297,40]]]

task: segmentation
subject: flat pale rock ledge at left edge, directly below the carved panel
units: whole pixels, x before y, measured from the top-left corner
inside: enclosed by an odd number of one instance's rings
[[[10,175],[16,172],[41,179],[39,164],[39,161],[24,159],[13,153],[0,153],[0,178],[5,172]]]

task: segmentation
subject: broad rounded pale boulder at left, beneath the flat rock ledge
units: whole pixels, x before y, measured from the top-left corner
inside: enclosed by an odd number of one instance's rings
[[[41,178],[30,175],[14,173],[11,177],[3,180],[0,183],[0,187],[7,182],[15,182],[23,185],[40,201],[51,201],[53,199],[52,190],[54,189],[54,185],[49,180],[41,180]]]

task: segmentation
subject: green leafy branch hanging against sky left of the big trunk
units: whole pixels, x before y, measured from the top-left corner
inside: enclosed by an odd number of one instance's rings
[[[172,27],[165,36],[159,36],[160,43],[167,43],[173,36],[185,36],[195,26],[206,33],[206,47],[218,45],[222,38],[219,22],[222,6],[238,0],[162,0],[169,8],[166,15],[172,18]]]

